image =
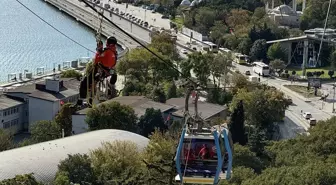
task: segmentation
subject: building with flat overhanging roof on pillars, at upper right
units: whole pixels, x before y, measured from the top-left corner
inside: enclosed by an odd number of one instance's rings
[[[323,36],[324,35],[324,36]],[[335,44],[336,30],[315,28],[306,30],[305,35],[288,39],[268,41],[267,44],[280,43],[281,47],[287,52],[287,64],[294,66],[316,67],[323,63],[321,59],[317,61],[320,44]]]

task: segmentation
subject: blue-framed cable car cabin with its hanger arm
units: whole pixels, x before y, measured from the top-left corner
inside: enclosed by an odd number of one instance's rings
[[[189,98],[196,92],[194,114],[189,111]],[[198,114],[199,92],[187,88],[184,125],[177,147],[176,182],[181,184],[212,184],[231,178],[233,143],[226,126],[211,126]]]

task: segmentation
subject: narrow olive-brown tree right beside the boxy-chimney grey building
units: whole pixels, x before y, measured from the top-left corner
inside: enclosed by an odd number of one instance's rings
[[[72,135],[72,114],[76,112],[76,109],[71,103],[62,105],[61,110],[55,117],[55,122],[61,129],[64,129],[64,136]]]

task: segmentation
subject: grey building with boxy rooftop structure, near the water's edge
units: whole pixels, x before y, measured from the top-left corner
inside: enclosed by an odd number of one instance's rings
[[[8,98],[22,102],[20,128],[40,120],[53,120],[62,103],[75,103],[79,98],[77,79],[46,78],[45,81],[23,85],[5,92]]]

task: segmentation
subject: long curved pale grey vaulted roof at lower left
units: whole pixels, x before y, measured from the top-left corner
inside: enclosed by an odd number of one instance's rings
[[[0,152],[0,180],[33,173],[38,181],[52,183],[57,165],[68,154],[88,154],[101,147],[103,142],[116,140],[134,142],[139,150],[149,142],[135,133],[106,129]]]

